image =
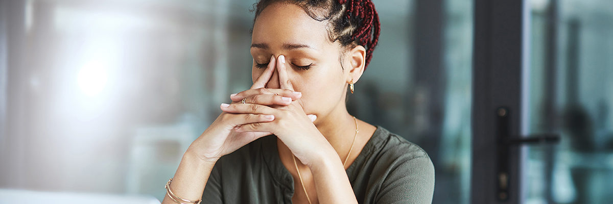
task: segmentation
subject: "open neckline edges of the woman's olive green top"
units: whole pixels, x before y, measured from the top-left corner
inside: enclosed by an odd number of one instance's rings
[[[365,160],[370,156],[370,154],[378,149],[379,144],[383,141],[383,135],[386,134],[387,130],[381,126],[376,126],[375,132],[368,139],[360,154],[356,157],[356,160],[349,165],[349,167],[345,170],[349,177],[349,182],[353,183],[356,179],[357,168],[359,165],[363,164]],[[275,180],[275,183],[285,187],[292,194],[294,193],[294,178],[289,173],[287,168],[281,162],[281,157],[279,156],[279,151],[276,146],[276,135],[268,135],[265,137],[265,140],[262,142],[262,157],[264,157],[264,162],[272,173],[272,178]]]

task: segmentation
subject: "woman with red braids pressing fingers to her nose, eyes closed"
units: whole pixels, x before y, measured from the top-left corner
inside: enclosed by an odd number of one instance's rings
[[[349,115],[378,41],[370,0],[256,4],[253,86],[188,148],[163,203],[430,203],[418,146]]]

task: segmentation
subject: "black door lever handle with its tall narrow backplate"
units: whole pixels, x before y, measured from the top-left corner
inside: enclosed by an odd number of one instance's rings
[[[498,143],[498,161],[497,161],[497,189],[496,197],[498,201],[506,201],[509,199],[509,161],[511,161],[511,148],[519,145],[539,145],[559,143],[559,134],[534,134],[534,135],[511,135],[509,134],[509,108],[499,107],[496,110],[497,117],[497,143]]]

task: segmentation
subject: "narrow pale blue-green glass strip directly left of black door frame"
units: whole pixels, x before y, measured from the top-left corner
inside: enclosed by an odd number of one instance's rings
[[[444,98],[440,203],[470,203],[473,1],[444,1]],[[448,176],[448,177],[446,177]],[[445,188],[445,189],[443,189]]]

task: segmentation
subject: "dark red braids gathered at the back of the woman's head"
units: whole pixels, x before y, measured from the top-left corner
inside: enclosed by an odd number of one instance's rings
[[[370,0],[338,0],[338,3],[347,6],[347,18],[351,21],[352,16],[359,17],[357,19],[356,31],[351,35],[351,40],[356,41],[359,45],[366,47],[366,64],[364,69],[368,67],[370,59],[373,58],[373,50],[379,42],[379,33],[381,32],[381,24],[379,23],[379,14],[375,10],[375,4]]]

